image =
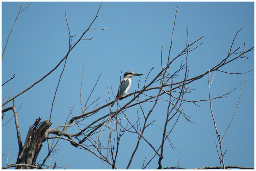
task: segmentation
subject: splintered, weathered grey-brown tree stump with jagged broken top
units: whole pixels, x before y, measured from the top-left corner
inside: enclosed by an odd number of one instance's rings
[[[37,118],[35,123],[29,127],[24,145],[19,151],[16,164],[36,165],[36,158],[41,150],[42,137],[52,122],[45,120],[40,123],[41,118]],[[15,169],[34,169],[29,166],[17,166]]]

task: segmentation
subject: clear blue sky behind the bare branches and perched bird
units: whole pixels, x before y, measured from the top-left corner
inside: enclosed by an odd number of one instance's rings
[[[23,7],[27,4],[28,2],[24,2]],[[89,31],[84,38],[94,38],[80,42],[71,51],[53,106],[51,128],[64,124],[69,114],[69,106],[75,105],[73,113],[81,114],[80,84],[83,59],[85,59],[83,103],[87,100],[101,73],[101,78],[90,100],[93,102],[101,96],[100,105],[106,104],[106,99],[108,100],[107,80],[110,91],[112,86],[116,94],[122,68],[123,73],[134,71],[143,74],[140,76],[141,87],[153,66],[154,69],[148,80],[154,78],[161,69],[160,54],[163,43],[163,60],[165,63],[167,60],[178,4],[171,58],[186,47],[186,26],[188,26],[188,43],[204,36],[201,41],[204,43],[188,55],[189,78],[208,71],[209,67],[215,66],[224,59],[240,28],[241,31],[235,39],[233,48],[241,46],[242,50],[244,42],[245,49],[254,46],[254,2],[103,2],[91,29],[107,28],[107,30]],[[94,19],[99,6],[100,2],[33,2],[24,10],[17,19],[2,60],[2,83],[15,74],[15,78],[2,87],[2,100],[8,90],[10,92],[13,89],[11,95],[13,97],[51,71],[64,58],[68,51],[69,38],[64,9],[67,11],[71,35],[77,35],[73,40],[75,42],[83,29],[87,29]],[[2,52],[18,10],[19,2],[2,2]],[[245,72],[254,69],[254,51],[247,56],[249,59],[237,59],[222,70]],[[180,62],[185,60],[184,57],[175,63],[176,66],[170,67],[171,72],[179,68]],[[37,117],[43,120],[49,119],[53,95],[62,68],[63,64],[45,80],[15,99],[16,107],[23,103],[18,111],[23,143],[29,126]],[[212,78],[213,75],[214,73],[211,73],[210,77]],[[189,88],[196,88],[196,90],[193,90],[192,94],[186,94],[185,98],[187,100],[207,99],[207,79],[208,76],[204,76],[190,84]],[[242,84],[241,100],[222,144],[224,150],[228,148],[224,160],[225,165],[229,166],[254,167],[254,71],[239,75],[216,72],[211,86],[211,96],[216,97],[222,95],[227,88],[228,91],[232,90],[246,79],[249,80]],[[129,92],[137,89],[139,77],[133,77],[132,81]],[[240,91],[241,87],[226,98],[213,100],[213,111],[221,135],[233,116]],[[111,99],[114,99],[113,95]],[[128,100],[124,99],[120,104],[125,105]],[[183,168],[220,165],[215,146],[217,138],[210,113],[210,103],[206,101],[197,104],[201,108],[191,103],[183,104],[183,112],[192,117],[192,121],[196,124],[188,123],[184,118],[180,119],[170,135],[170,140],[179,152],[173,151],[166,142],[163,167],[177,166],[179,158],[179,166]],[[9,102],[6,107],[11,105],[12,102]],[[149,123],[156,119],[155,124],[163,128],[166,105],[166,102],[162,101],[156,106],[149,118]],[[150,105],[143,104],[143,106],[148,110]],[[108,109],[103,109],[97,113],[97,117],[106,115],[107,112]],[[133,123],[136,121],[136,107],[127,110],[126,114]],[[142,115],[142,113],[139,114]],[[13,113],[8,111],[2,124],[12,116]],[[169,129],[173,123],[174,121],[169,124]],[[18,153],[14,126],[14,119],[12,119],[2,127],[2,155],[6,157],[9,149],[4,149],[12,145],[9,160]],[[78,128],[75,127],[70,131],[77,132]],[[105,144],[107,139],[104,138],[107,136],[106,132],[102,139]],[[156,148],[160,145],[161,136],[161,129],[154,125],[145,132],[145,137]],[[137,143],[137,135],[127,133],[120,143],[116,166],[125,169]],[[102,164],[100,159],[92,153],[77,149],[67,141],[60,140],[58,148],[60,149],[56,158],[58,166],[69,166],[71,169],[108,168],[106,163]],[[46,152],[47,143],[44,142],[37,158],[38,162],[44,158]],[[145,154],[148,161],[154,155],[154,151],[142,140],[130,169],[141,169]],[[155,158],[147,169],[157,168],[157,161],[158,158]],[[2,159],[2,167],[5,165],[6,160]]]

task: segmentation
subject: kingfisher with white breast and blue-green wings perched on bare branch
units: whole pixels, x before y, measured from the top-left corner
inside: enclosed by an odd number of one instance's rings
[[[133,77],[133,76],[140,76],[140,75],[143,75],[143,74],[136,74],[135,72],[132,72],[132,71],[125,72],[124,79],[123,79],[123,81],[121,82],[121,84],[120,84],[120,86],[118,88],[116,99],[119,99],[124,94],[127,94],[127,91],[131,87],[131,77]],[[113,107],[113,105],[115,104],[116,99],[112,103],[111,107]]]

